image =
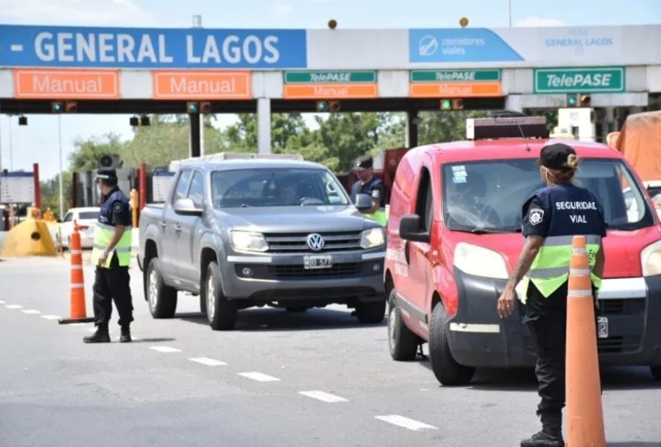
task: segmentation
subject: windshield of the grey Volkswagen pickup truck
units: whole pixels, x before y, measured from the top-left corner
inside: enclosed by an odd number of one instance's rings
[[[348,205],[338,179],[323,169],[250,168],[212,173],[214,207]]]

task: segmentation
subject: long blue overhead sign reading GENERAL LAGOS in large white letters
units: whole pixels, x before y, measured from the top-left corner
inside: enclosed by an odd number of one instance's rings
[[[307,68],[306,33],[0,25],[0,67]]]

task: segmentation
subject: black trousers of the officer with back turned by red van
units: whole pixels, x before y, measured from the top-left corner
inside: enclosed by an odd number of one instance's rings
[[[528,326],[538,356],[535,374],[541,401],[537,415],[541,417],[560,416],[565,408],[567,288],[568,283],[565,282],[545,298],[532,282],[528,285],[523,323]],[[596,296],[594,284],[592,296]],[[598,309],[595,307],[595,327],[598,327],[597,315]]]

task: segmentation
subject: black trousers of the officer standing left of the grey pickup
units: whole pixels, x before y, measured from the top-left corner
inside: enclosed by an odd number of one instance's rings
[[[108,325],[113,315],[113,300],[120,314],[119,324],[130,325],[133,321],[133,303],[130,295],[129,267],[120,266],[117,254],[113,255],[110,268],[96,267],[94,279],[95,325]]]

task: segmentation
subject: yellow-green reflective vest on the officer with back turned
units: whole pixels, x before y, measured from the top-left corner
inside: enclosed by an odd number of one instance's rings
[[[601,279],[592,272],[601,245],[601,236],[590,234],[585,236],[585,249],[590,263],[590,279],[597,288],[601,287]],[[528,284],[535,284],[541,294],[548,296],[557,290],[569,278],[569,263],[572,257],[573,236],[548,236],[537,252],[521,283],[516,286],[518,298],[525,304]]]

